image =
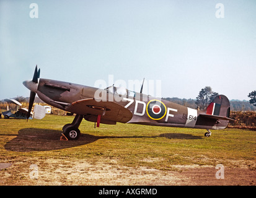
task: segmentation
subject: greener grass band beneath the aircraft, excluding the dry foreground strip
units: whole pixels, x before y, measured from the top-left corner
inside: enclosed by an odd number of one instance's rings
[[[117,160],[120,166],[174,170],[174,165],[225,164],[255,168],[255,131],[107,125],[82,121],[77,141],[60,141],[73,116],[46,115],[42,120],[0,119],[0,163],[45,159]],[[42,162],[43,163],[43,162]],[[111,162],[110,162],[111,163]]]

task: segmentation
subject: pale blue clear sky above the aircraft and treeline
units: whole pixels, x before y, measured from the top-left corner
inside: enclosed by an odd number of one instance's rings
[[[216,4],[224,18],[216,17]],[[30,18],[30,4],[38,18]],[[0,100],[41,77],[161,80],[162,97],[229,99],[256,90],[256,1],[0,1]],[[139,92],[139,90],[136,90]]]

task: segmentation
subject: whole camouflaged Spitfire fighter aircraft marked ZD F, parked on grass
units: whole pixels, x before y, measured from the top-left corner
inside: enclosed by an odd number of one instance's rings
[[[77,140],[81,135],[78,129],[82,119],[97,123],[133,123],[151,126],[189,127],[206,129],[225,129],[229,121],[230,105],[224,95],[218,95],[205,111],[178,105],[161,98],[151,97],[141,92],[110,86],[105,89],[85,85],[40,79],[40,69],[33,74],[32,80],[24,81],[30,90],[30,116],[33,100],[38,97],[51,106],[76,114],[72,123],[63,126],[63,134],[69,140]]]

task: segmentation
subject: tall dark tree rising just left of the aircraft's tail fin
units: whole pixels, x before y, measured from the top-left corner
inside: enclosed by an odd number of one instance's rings
[[[213,92],[211,87],[206,86],[200,90],[195,103],[200,107],[200,110],[205,110],[210,101],[212,101],[217,95],[218,93]]]

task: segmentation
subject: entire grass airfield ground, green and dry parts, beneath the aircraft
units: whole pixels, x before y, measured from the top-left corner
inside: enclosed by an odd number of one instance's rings
[[[0,119],[0,185],[256,185],[255,131],[205,137],[205,129],[83,120],[79,140],[60,141],[73,119]]]

